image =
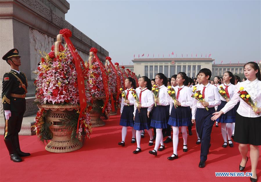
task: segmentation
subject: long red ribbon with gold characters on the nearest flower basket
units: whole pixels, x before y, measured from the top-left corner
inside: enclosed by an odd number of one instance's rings
[[[83,60],[80,57],[80,55],[77,52],[75,52],[75,47],[73,46],[73,43],[71,42],[69,37],[67,37],[64,34],[63,34],[63,37],[64,37],[64,40],[67,43],[69,50],[71,51],[71,54],[72,54],[73,59],[75,61],[75,68],[76,68],[76,72],[77,72],[77,82],[78,82],[79,98],[80,98],[80,115],[79,115],[78,124],[77,124],[77,133],[78,133],[79,132],[78,128],[79,128],[79,124],[80,124],[80,118],[82,116],[82,111],[87,106],[86,94],[85,94],[85,85],[84,85],[84,78],[83,78],[83,75],[82,75],[81,62],[82,62],[82,65],[83,65],[84,68],[85,68],[85,66],[84,66]]]

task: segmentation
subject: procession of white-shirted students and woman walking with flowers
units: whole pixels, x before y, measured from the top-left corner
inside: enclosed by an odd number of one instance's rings
[[[168,94],[168,78],[164,74],[158,73],[155,80],[152,81],[146,77],[138,79],[139,87],[136,88],[135,80],[131,77],[125,79],[124,92],[127,100],[122,98],[120,125],[122,128],[122,141],[118,145],[125,145],[127,127],[132,127],[132,141],[137,143],[134,154],[141,152],[141,137],[144,136],[144,130],[147,130],[150,140],[148,145],[152,146],[153,132],[155,128],[156,139],[153,150],[149,153],[157,155],[158,151],[165,149],[164,142],[171,141],[170,126],[173,131],[173,154],[168,157],[169,160],[178,159],[177,146],[179,127],[183,137],[183,152],[188,151],[187,146],[187,127],[191,131],[191,126],[196,123],[197,144],[201,144],[199,168],[205,167],[205,161],[209,152],[210,135],[215,122],[221,123],[221,132],[224,139],[223,147],[227,145],[233,147],[231,137],[234,132],[234,141],[239,143],[239,150],[242,155],[242,161],[239,169],[244,170],[248,157],[248,146],[250,145],[250,157],[252,164],[252,174],[250,180],[256,181],[256,167],[258,163],[259,150],[261,145],[261,74],[257,63],[249,62],[244,65],[244,75],[247,78],[244,82],[238,82],[235,85],[235,77],[227,71],[223,74],[223,83],[219,77],[214,84],[210,84],[212,73],[209,69],[203,68],[197,74],[197,84],[192,84],[192,79],[188,78],[186,73],[179,72],[173,75],[169,80],[171,87],[175,91],[176,101]],[[156,84],[158,88],[158,97],[153,95],[152,85]],[[226,92],[228,99],[224,99],[219,94],[220,86]],[[257,110],[253,110],[250,105],[239,97],[239,89],[244,87],[252,101],[256,102]],[[204,101],[199,102],[191,96],[193,90],[200,91]],[[136,90],[139,103],[135,101],[132,95],[132,89]],[[206,109],[208,108],[208,110]],[[139,111],[138,109],[139,108]],[[233,123],[236,123],[233,125]],[[168,138],[163,142],[163,131],[165,130]]]

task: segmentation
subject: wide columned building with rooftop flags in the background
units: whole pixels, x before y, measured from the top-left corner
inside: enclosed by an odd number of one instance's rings
[[[201,68],[212,70],[212,75],[222,76],[224,72],[231,71],[234,75],[243,73],[244,63],[214,64],[212,58],[138,58],[133,59],[134,65],[124,65],[137,75],[145,75],[150,79],[157,73],[163,73],[170,78],[179,72],[185,72],[188,77],[195,78]]]

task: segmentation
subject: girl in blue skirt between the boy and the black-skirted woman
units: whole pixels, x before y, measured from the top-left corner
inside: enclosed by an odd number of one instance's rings
[[[220,111],[226,105],[226,103],[229,101],[229,99],[231,99],[233,97],[234,90],[235,90],[235,85],[234,85],[235,77],[230,71],[224,72],[223,81],[224,81],[224,83],[222,83],[217,88],[220,91],[220,89],[221,89],[220,87],[223,87],[226,91],[226,95],[227,95],[228,99],[225,99],[224,97],[222,97],[220,95],[221,104],[217,107],[217,112]],[[233,132],[233,123],[235,123],[235,118],[236,118],[236,110],[237,110],[237,106],[235,106],[233,109],[231,109],[226,114],[222,114],[221,117],[219,117],[217,119],[217,122],[221,123],[221,133],[222,133],[222,137],[224,139],[224,143],[223,143],[222,147],[224,147],[224,148],[226,148],[227,145],[229,145],[230,147],[233,147],[233,142],[231,141],[231,136],[232,136],[232,132]]]

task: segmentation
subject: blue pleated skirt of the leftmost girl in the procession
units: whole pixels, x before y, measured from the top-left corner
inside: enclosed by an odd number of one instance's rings
[[[134,105],[130,105],[130,106],[124,105],[123,111],[120,116],[120,125],[121,126],[133,127],[133,125],[134,125],[133,112],[134,112]]]

